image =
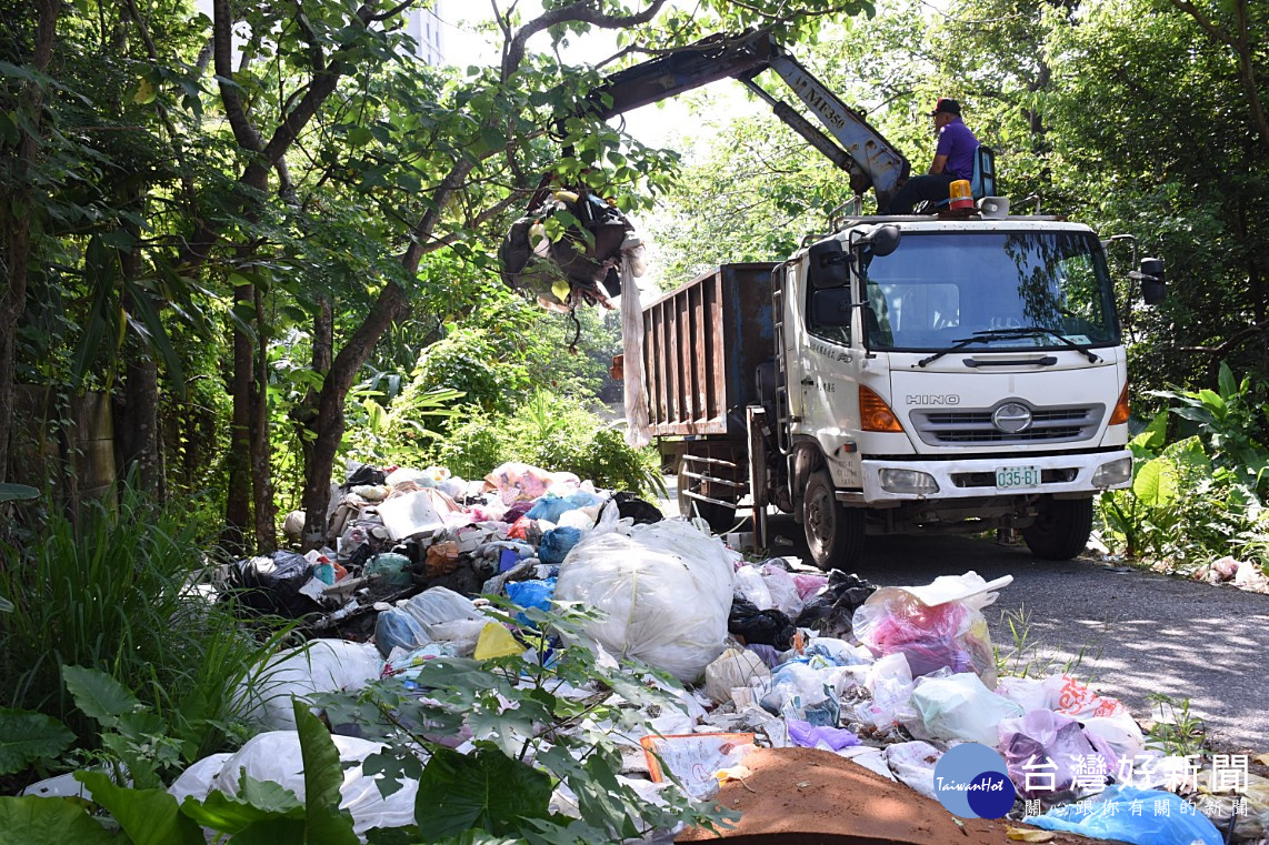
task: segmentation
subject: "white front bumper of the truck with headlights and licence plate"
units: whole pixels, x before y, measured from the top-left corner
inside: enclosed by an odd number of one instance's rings
[[[968,461],[863,459],[863,491],[848,502],[884,504],[983,496],[1093,496],[1132,482],[1127,449],[1091,454],[999,455]]]

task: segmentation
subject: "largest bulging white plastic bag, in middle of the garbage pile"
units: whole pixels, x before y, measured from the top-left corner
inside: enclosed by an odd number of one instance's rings
[[[739,557],[680,521],[590,533],[560,565],[555,600],[603,610],[585,633],[612,655],[690,681],[723,652]]]

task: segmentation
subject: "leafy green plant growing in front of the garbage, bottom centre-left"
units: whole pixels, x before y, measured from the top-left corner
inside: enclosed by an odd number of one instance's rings
[[[580,645],[581,626],[596,618],[594,610],[523,613],[534,626],[519,629],[533,646],[529,652],[483,662],[425,661],[411,685],[428,690],[426,697],[397,679],[355,697],[320,697],[332,721],[357,723],[387,742],[365,764],[383,775],[381,792],[395,792],[400,779],[419,779],[415,822],[438,839],[478,832],[542,845],[615,842],[683,821],[722,822],[726,813],[675,789],[650,802],[615,776],[621,752],[614,738],[641,718],[633,708],[680,708],[676,681],[643,666],[599,662]],[[491,617],[519,624],[500,612]],[[585,686],[598,691],[585,698],[569,691]],[[472,736],[476,750],[461,755],[444,747],[454,736]],[[576,796],[580,818],[551,811],[556,783]]]

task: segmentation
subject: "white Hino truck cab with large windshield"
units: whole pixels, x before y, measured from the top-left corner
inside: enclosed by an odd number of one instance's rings
[[[855,218],[774,270],[773,409],[817,562],[863,537],[1016,528],[1084,549],[1132,477],[1105,252],[1056,218]]]

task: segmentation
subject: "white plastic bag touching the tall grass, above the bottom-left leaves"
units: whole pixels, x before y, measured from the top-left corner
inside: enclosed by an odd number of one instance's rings
[[[315,639],[266,658],[250,685],[240,684],[235,700],[242,716],[272,730],[294,730],[292,697],[364,689],[378,680],[383,658],[373,643]]]

